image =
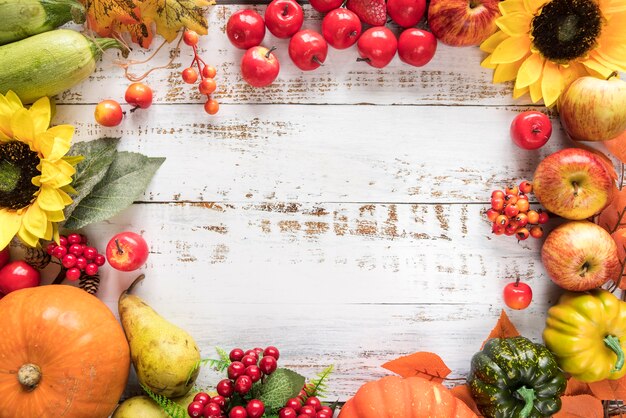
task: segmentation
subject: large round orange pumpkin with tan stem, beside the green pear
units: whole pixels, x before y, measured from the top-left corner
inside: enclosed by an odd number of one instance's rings
[[[108,417],[129,367],[122,327],[83,290],[41,286],[0,300],[0,417]]]

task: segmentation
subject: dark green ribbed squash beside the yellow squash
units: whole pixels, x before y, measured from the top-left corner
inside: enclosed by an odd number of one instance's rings
[[[467,383],[488,418],[551,417],[567,385],[552,353],[524,337],[487,341],[472,357]]]

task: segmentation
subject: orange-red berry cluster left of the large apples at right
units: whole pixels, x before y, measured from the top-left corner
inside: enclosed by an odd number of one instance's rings
[[[526,180],[504,191],[494,190],[491,193],[491,208],[487,210],[487,219],[493,223],[491,232],[515,235],[518,241],[528,237],[541,238],[543,229],[539,225],[548,222],[548,214],[541,209],[530,209],[528,194],[532,191],[532,183]]]

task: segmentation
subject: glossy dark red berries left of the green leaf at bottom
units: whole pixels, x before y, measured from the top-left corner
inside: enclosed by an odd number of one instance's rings
[[[269,376],[278,368],[280,352],[276,347],[253,348],[244,351],[234,348],[229,354],[228,379],[221,380],[216,387],[217,396],[209,397],[198,393],[187,407],[191,417],[260,418],[265,413],[265,405],[258,399],[247,400],[245,406],[229,408],[228,401],[235,394],[245,400],[252,385],[264,376]],[[198,399],[196,399],[198,398]]]

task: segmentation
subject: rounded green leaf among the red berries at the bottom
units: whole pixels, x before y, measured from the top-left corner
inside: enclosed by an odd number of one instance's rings
[[[276,413],[290,398],[298,396],[304,386],[304,376],[289,370],[277,369],[260,387],[259,400],[268,414]]]

